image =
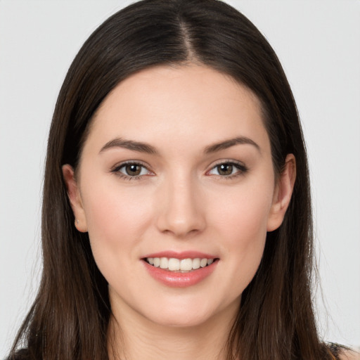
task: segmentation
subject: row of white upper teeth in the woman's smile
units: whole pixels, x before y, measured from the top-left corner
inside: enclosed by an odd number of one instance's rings
[[[166,269],[169,271],[191,271],[205,267],[214,262],[214,259],[175,259],[174,257],[147,257],[146,260],[150,265],[160,267],[160,269]]]

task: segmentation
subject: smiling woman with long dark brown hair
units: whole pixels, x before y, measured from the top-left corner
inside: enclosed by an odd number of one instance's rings
[[[220,1],[144,1],[60,91],[28,359],[340,359],[311,305],[307,160],[274,51]],[[340,356],[340,357],[339,357]]]

